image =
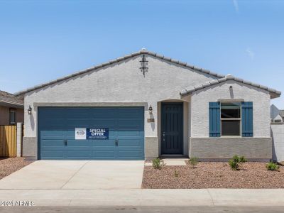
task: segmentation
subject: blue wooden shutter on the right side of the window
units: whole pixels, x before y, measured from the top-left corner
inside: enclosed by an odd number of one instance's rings
[[[241,102],[241,133],[253,137],[253,102]]]

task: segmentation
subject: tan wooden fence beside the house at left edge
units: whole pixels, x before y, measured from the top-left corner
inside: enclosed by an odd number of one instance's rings
[[[0,126],[0,157],[16,157],[17,128],[15,126]]]

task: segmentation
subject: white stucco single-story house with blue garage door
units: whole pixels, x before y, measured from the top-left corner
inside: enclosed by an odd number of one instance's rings
[[[23,155],[34,159],[270,160],[281,92],[141,50],[23,94]]]

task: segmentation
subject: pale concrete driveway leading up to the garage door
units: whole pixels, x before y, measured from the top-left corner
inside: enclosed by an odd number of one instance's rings
[[[0,189],[140,189],[143,160],[38,160],[0,180]]]

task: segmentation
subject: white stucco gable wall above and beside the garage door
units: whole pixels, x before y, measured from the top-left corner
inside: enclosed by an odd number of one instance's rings
[[[158,102],[180,99],[180,90],[216,78],[151,56],[147,56],[148,72],[144,76],[139,69],[139,60],[141,55],[29,92],[25,96],[25,111],[29,105],[33,111],[31,116],[25,113],[25,136],[37,135],[38,103],[41,106],[45,103],[84,106],[89,103],[137,102],[152,105],[155,123],[147,122],[149,114],[146,111],[145,136],[157,137]]]

